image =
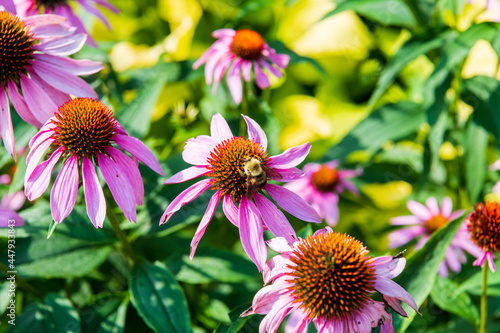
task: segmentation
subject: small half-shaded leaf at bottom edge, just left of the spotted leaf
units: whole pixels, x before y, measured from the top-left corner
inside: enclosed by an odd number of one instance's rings
[[[80,311],[82,331],[95,333],[121,333],[125,328],[125,318],[129,297],[103,296],[95,304]]]

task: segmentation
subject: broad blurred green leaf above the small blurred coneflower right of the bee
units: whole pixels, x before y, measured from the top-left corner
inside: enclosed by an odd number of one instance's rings
[[[418,130],[425,121],[420,105],[400,102],[383,105],[363,119],[342,141],[330,148],[323,158],[344,160],[351,152],[367,150],[373,156],[386,141],[397,140]]]

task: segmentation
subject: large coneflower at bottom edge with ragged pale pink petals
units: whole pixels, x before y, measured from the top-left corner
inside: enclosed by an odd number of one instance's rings
[[[400,301],[418,312],[413,298],[392,281],[404,269],[402,255],[373,258],[355,238],[330,227],[290,246],[280,238],[268,245],[280,255],[264,266],[264,286],[242,316],[265,314],[259,332],[274,333],[290,314],[287,332],[307,332],[312,321],[318,332],[394,332],[385,304],[407,316]],[[384,302],[371,298],[377,291]]]

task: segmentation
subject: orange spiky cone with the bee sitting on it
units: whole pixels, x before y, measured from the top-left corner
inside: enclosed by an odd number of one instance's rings
[[[253,164],[249,164],[252,160]],[[221,195],[229,194],[236,203],[252,188],[257,192],[267,183],[265,169],[269,156],[264,148],[253,140],[232,137],[217,145],[208,158],[207,174],[213,177],[212,189]],[[247,166],[245,168],[245,166]]]

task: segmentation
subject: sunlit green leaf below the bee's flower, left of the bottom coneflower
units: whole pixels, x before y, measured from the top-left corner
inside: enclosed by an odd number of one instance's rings
[[[248,259],[220,249],[204,248],[196,260],[188,254],[172,256],[166,263],[175,279],[187,283],[242,283],[256,276],[255,265]]]

